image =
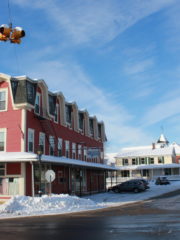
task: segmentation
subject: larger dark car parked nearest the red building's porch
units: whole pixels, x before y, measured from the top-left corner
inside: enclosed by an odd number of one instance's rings
[[[113,191],[113,192],[142,192],[145,191],[146,188],[143,184],[142,181],[140,180],[129,180],[126,182],[123,182],[121,184],[115,185],[113,187],[108,188],[108,192],[109,191]]]

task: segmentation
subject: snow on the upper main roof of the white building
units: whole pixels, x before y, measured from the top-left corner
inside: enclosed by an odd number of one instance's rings
[[[172,146],[155,149],[141,148],[132,151],[121,151],[116,155],[116,158],[173,155],[173,150],[174,148]]]

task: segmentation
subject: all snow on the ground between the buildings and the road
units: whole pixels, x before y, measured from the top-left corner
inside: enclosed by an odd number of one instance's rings
[[[171,182],[170,185],[156,186],[154,182],[150,183],[150,189],[142,193],[99,193],[86,197],[70,196],[68,194],[43,196],[43,197],[26,197],[15,196],[7,203],[0,205],[0,218],[9,218],[17,216],[35,216],[63,214],[79,212],[86,210],[95,210],[99,208],[121,206],[127,203],[134,203],[147,200],[167,192],[180,189],[180,181]],[[177,200],[177,198],[179,200]],[[180,204],[180,197],[173,197],[174,203]],[[167,208],[171,199],[163,206]],[[174,205],[175,206],[175,205]],[[157,205],[161,207],[161,203]],[[176,205],[177,207],[177,205]],[[178,207],[179,208],[179,207]]]

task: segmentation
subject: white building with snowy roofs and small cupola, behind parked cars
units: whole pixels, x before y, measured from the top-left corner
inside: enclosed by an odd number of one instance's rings
[[[152,145],[123,148],[115,160],[119,168],[117,178],[180,176],[180,146],[169,144],[163,134]]]

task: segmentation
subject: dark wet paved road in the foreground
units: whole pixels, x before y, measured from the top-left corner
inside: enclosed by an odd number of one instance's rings
[[[160,199],[162,201],[162,198]],[[166,201],[167,198],[164,198]],[[159,209],[159,199],[98,211],[0,220],[2,240],[179,240],[179,210]],[[168,199],[169,201],[169,199]]]

